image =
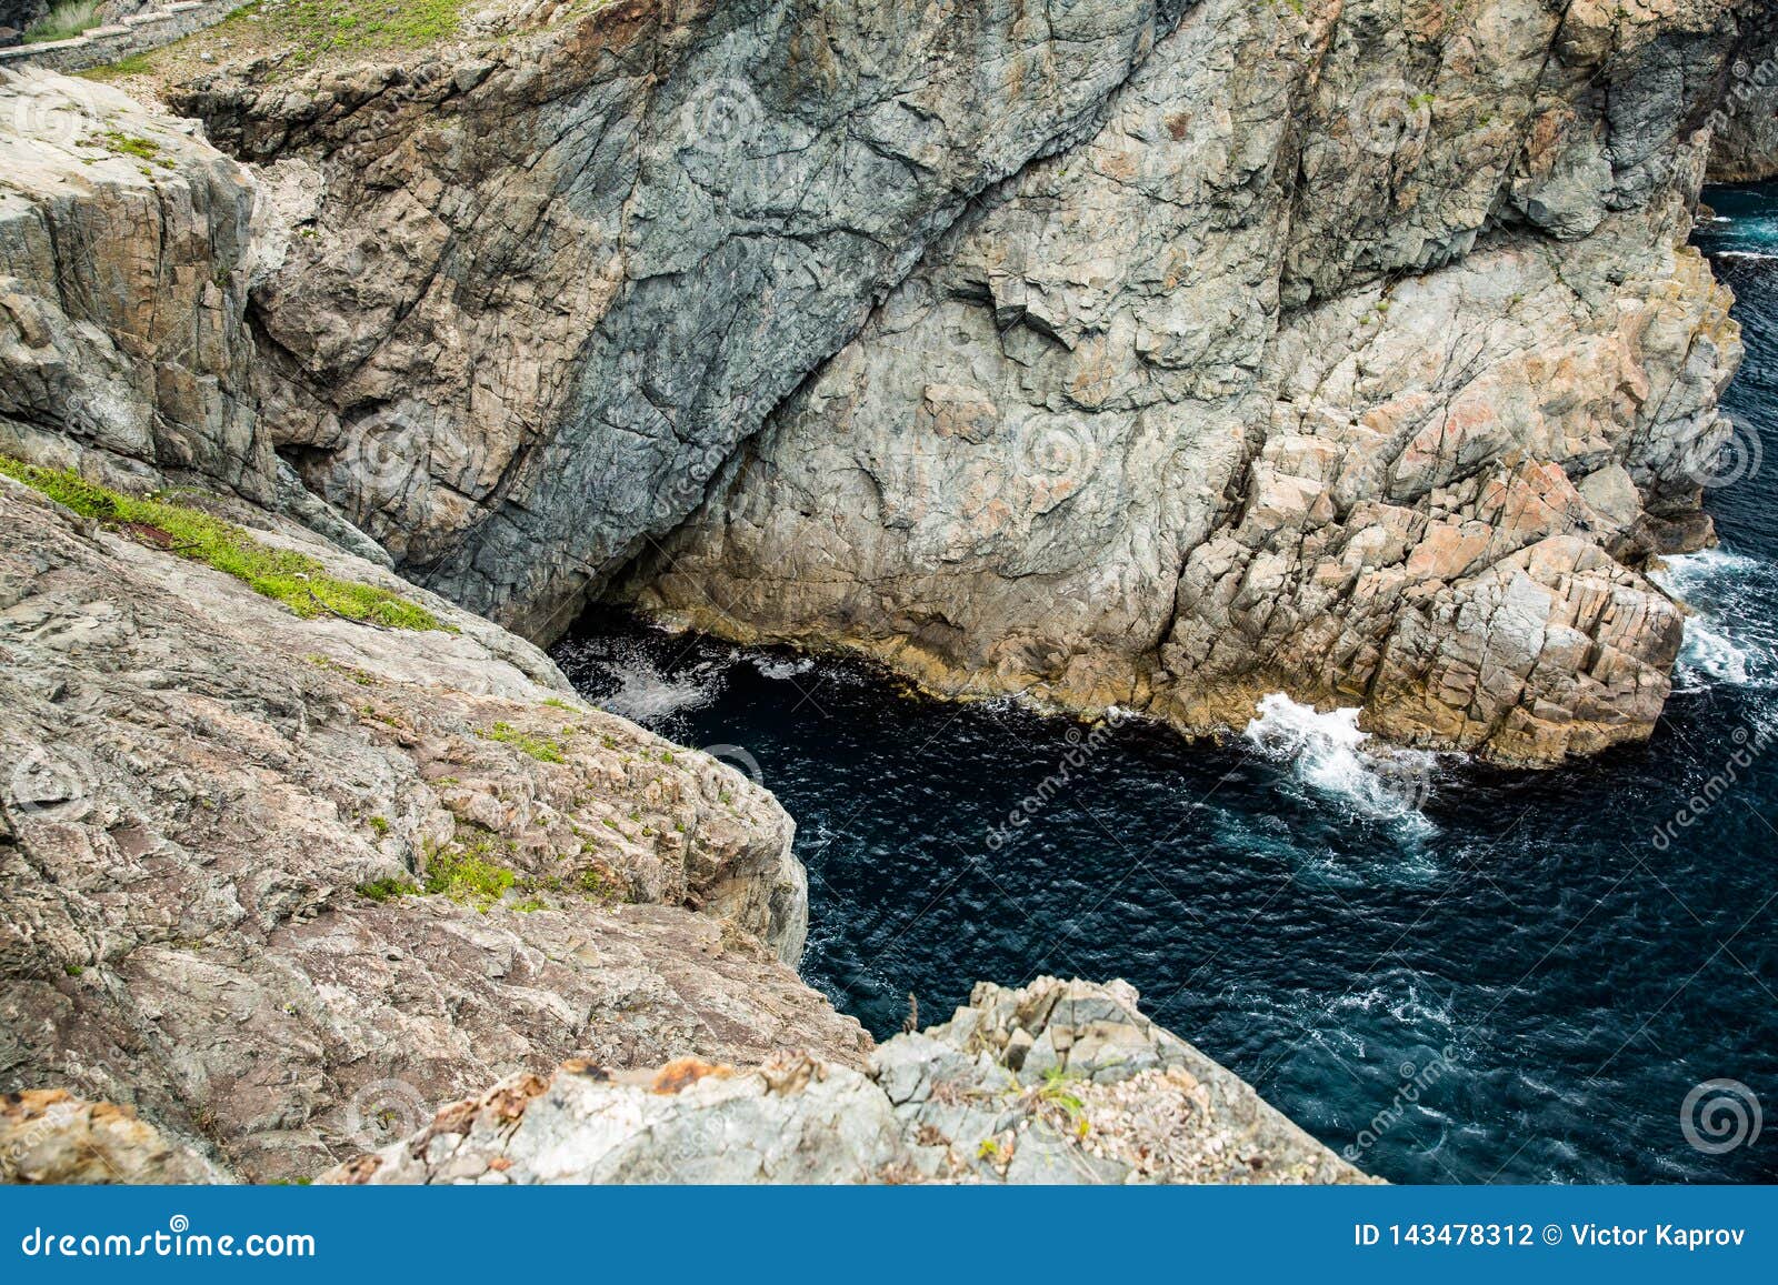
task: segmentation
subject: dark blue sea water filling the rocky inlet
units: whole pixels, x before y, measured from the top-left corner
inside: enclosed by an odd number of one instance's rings
[[[757,764],[809,866],[804,974],[878,1034],[909,992],[941,1020],[978,978],[1118,976],[1396,1182],[1778,1180],[1778,739],[1751,752],[1778,736],[1778,188],[1712,201],[1750,348],[1728,409],[1771,460],[1670,572],[1698,617],[1646,748],[1442,762],[1414,807],[1339,718],[1280,707],[1266,746],[1127,725],[996,846],[1079,727],[608,617],[557,658]]]

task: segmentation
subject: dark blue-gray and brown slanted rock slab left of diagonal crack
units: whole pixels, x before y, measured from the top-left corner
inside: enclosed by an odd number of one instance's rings
[[[629,2],[174,101],[309,192],[256,295],[279,446],[409,574],[551,636],[1182,7]]]

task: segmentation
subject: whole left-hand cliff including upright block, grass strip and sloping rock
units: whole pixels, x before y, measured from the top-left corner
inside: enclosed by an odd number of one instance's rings
[[[4,1086],[277,1178],[571,1054],[859,1063],[793,972],[772,796],[589,709],[279,475],[251,176],[44,75],[0,91],[0,174]],[[27,1139],[78,1114],[34,1102]],[[75,1153],[135,1146],[78,1121]]]

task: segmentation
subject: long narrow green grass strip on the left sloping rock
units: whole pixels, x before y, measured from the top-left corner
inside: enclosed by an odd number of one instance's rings
[[[388,629],[443,629],[436,615],[398,594],[327,574],[306,553],[272,549],[247,531],[187,505],[126,496],[71,469],[44,469],[0,455],[0,473],[41,491],[82,517],[114,523],[181,558],[208,563],[283,603],[299,617],[338,615]]]

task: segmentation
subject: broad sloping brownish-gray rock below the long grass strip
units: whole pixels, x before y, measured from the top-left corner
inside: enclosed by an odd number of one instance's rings
[[[274,1178],[576,1052],[862,1058],[786,963],[805,878],[740,773],[441,599],[457,633],[299,619],[0,483],[5,1086]]]

